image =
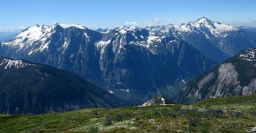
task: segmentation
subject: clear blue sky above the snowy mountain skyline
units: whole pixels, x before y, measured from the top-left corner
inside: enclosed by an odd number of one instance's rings
[[[35,24],[79,23],[88,28],[122,25],[166,25],[207,17],[233,25],[256,27],[254,0],[1,0],[0,29]]]

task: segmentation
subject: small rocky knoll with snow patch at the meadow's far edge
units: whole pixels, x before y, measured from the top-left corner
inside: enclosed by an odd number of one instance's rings
[[[157,96],[156,98],[149,99],[148,101],[146,101],[146,103],[142,105],[150,106],[150,105],[166,105],[166,104],[173,104],[173,103],[167,98],[164,98],[162,96]]]

